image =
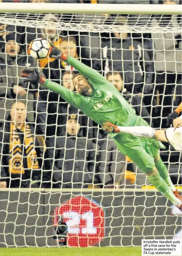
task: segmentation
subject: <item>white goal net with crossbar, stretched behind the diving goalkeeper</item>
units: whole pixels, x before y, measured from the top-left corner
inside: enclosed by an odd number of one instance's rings
[[[182,97],[180,6],[1,8],[0,247],[139,246],[141,239],[181,239],[181,211],[99,125],[20,77],[23,68],[37,67],[74,90],[77,70],[27,54],[33,39],[46,38],[105,76],[149,125],[165,128]],[[164,145],[161,157],[179,190],[181,152]]]

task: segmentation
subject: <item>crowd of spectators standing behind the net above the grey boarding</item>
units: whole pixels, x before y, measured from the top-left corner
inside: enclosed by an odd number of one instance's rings
[[[180,3],[179,0],[49,2]],[[100,17],[106,23],[126,20],[125,15]],[[79,18],[74,14],[74,21]],[[58,22],[57,15],[52,14],[41,15],[41,19],[52,24]],[[130,15],[127,23],[135,19],[141,23],[142,15]],[[178,20],[178,15],[173,18],[153,15],[150,24],[176,26]],[[0,24],[0,187],[112,188],[122,186],[126,180],[128,184],[135,183],[136,166],[117,150],[113,140],[94,121],[60,95],[38,84],[23,82],[20,70],[39,67],[47,79],[75,90],[71,78],[77,70],[73,67],[54,58],[36,61],[27,54],[28,45],[37,37],[46,38],[63,53],[102,73],[137,115],[155,128],[165,128],[166,117],[181,102],[182,35],[60,31],[54,26],[37,29]]]

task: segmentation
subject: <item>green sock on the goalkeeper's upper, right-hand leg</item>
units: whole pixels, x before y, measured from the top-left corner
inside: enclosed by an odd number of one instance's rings
[[[162,159],[160,158],[156,163],[156,169],[159,172],[160,177],[162,177],[163,180],[167,183],[168,187],[175,191],[175,186],[173,185],[171,178],[168,173],[168,169],[166,168],[165,164],[163,163]]]

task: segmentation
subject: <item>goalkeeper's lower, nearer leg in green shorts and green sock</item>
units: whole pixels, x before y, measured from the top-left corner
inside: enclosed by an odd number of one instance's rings
[[[171,189],[168,187],[165,180],[159,175],[154,162],[154,157],[148,154],[143,146],[141,139],[137,137],[129,136],[130,140],[127,140],[127,134],[123,134],[122,137],[118,134],[114,137],[118,149],[139,166],[139,168],[148,175],[150,182],[165,195],[174,205],[181,206],[181,201],[176,198]]]

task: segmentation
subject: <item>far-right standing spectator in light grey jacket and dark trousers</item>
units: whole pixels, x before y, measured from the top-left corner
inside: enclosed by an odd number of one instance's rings
[[[163,4],[178,4],[178,0],[165,0]],[[178,26],[177,15],[156,15],[152,26]],[[175,89],[181,86],[182,78],[182,33],[157,32],[153,33],[155,50],[155,97],[153,105],[156,127],[166,127],[166,118],[172,112]],[[176,86],[177,84],[177,86]],[[179,90],[178,90],[179,91]],[[159,95],[159,96],[157,96]],[[162,109],[161,109],[162,105]],[[177,104],[175,104],[177,105]],[[161,112],[162,111],[162,112]],[[160,118],[162,116],[163,119]],[[165,118],[165,119],[164,119]]]

